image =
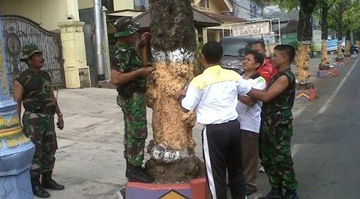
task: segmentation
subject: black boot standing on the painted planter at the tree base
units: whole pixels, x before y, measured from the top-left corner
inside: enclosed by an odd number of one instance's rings
[[[129,182],[138,182],[138,183],[154,183],[154,178],[147,175],[144,172],[144,169],[141,166],[134,166],[132,163],[127,162],[127,168],[125,176]]]

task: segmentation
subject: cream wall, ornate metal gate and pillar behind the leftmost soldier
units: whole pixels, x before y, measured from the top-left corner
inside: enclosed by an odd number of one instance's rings
[[[9,77],[27,68],[18,61],[21,48],[35,43],[43,50],[44,69],[56,85],[89,87],[84,23],[80,22],[78,9],[77,0],[0,0]]]

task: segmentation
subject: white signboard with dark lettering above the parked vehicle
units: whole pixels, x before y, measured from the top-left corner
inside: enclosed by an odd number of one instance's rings
[[[250,36],[262,35],[270,33],[270,26],[268,22],[241,24],[232,27],[233,36]]]

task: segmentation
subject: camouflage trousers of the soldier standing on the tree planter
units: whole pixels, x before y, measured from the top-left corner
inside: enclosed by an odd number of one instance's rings
[[[124,156],[134,166],[142,166],[147,139],[147,105],[144,93],[132,97],[117,96],[117,104],[124,113]]]

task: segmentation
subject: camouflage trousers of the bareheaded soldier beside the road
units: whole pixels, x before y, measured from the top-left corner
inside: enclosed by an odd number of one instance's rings
[[[265,173],[268,174],[270,185],[272,188],[295,190],[298,183],[291,157],[292,119],[264,119],[262,122],[260,159]]]

